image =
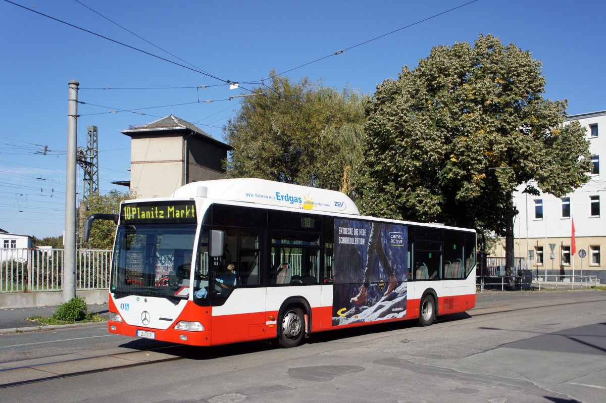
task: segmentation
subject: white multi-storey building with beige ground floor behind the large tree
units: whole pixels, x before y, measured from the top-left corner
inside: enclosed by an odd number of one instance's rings
[[[518,216],[514,222],[515,250],[529,257],[533,275],[548,281],[588,281],[597,276],[606,283],[606,110],[571,115],[587,128],[593,168],[590,181],[565,197],[514,193]],[[602,161],[602,166],[600,162]],[[523,187],[521,187],[523,189]],[[572,228],[574,222],[574,243]],[[576,253],[573,254],[574,246]],[[581,256],[584,255],[584,258]],[[604,257],[602,257],[604,255]],[[494,256],[505,256],[499,245]],[[582,277],[581,277],[582,276]]]

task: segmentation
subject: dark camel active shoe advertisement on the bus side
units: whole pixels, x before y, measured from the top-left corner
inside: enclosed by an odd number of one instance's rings
[[[408,227],[335,219],[333,325],[405,318]]]

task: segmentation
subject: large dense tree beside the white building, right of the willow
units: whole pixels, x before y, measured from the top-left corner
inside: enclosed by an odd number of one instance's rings
[[[544,99],[541,62],[492,35],[439,46],[378,85],[367,106],[364,213],[505,236],[513,265],[513,192],[562,196],[588,180],[584,129],[567,101]]]

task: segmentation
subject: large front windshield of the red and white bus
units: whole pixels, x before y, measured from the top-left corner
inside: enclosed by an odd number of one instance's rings
[[[196,224],[120,225],[110,287],[116,298],[159,296],[173,302],[190,293]]]

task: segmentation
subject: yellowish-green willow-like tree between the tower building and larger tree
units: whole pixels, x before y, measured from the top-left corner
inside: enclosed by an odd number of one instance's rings
[[[253,92],[264,95],[241,98],[238,115],[224,126],[226,141],[234,147],[227,176],[350,193],[350,178],[362,158],[368,97],[283,76]]]

